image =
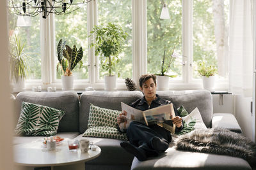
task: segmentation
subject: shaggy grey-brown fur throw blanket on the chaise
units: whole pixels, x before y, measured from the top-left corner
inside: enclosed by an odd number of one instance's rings
[[[177,150],[230,155],[256,166],[256,144],[228,129],[198,129],[181,135],[175,141]]]

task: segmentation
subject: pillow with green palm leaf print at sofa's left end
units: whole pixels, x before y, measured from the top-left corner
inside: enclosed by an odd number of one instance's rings
[[[22,102],[15,133],[26,136],[53,136],[65,111]]]

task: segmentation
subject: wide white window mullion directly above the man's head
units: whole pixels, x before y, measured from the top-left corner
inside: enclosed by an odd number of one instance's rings
[[[147,73],[147,0],[132,0],[132,76]]]

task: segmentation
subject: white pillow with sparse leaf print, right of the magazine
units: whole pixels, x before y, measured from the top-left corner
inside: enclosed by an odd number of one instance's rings
[[[189,115],[182,117],[182,120],[183,129],[180,132],[175,132],[175,134],[186,134],[195,129],[207,129],[198,108],[191,111]]]

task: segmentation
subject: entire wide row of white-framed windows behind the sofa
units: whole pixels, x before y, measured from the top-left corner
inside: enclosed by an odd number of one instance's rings
[[[159,18],[163,2],[168,6],[170,19]],[[20,34],[26,42],[26,53],[31,56],[29,80],[39,79],[45,86],[54,85],[61,89],[62,73],[56,71],[56,49],[60,39],[63,39],[69,46],[82,46],[84,52],[83,66],[72,71],[76,80],[75,89],[87,86],[103,89],[102,82],[107,72],[100,66],[100,57],[88,50],[88,40],[91,41],[88,31],[95,23],[112,22],[121,25],[128,34],[124,50],[119,55],[120,62],[113,71],[114,74],[120,73],[118,89],[126,89],[125,78],[138,82],[141,74],[159,72],[164,50],[168,62],[175,48],[178,57],[167,73],[177,75],[170,83],[175,90],[202,88],[196,71],[200,60],[217,66],[221,80],[228,79],[228,15],[228,0],[98,0],[84,4],[68,15],[49,16],[49,22],[40,15],[33,17],[31,27],[16,27],[17,15],[9,13],[9,23],[10,34]],[[32,87],[33,81],[29,82]],[[223,90],[227,87],[226,83],[217,88]]]

